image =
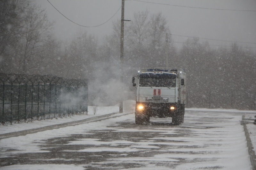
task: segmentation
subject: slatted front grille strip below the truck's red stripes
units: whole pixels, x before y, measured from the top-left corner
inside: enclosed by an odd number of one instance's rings
[[[140,102],[166,102],[174,103],[175,96],[150,96],[150,95],[141,95],[139,98]]]

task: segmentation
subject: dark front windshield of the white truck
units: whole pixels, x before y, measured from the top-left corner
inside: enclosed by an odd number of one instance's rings
[[[140,74],[140,87],[176,87],[176,74]]]

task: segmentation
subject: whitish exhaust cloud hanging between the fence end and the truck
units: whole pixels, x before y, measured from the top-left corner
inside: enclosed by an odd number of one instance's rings
[[[134,97],[134,93],[129,90],[127,83],[121,82],[118,60],[114,60],[112,65],[98,62],[96,67],[90,76],[88,86],[89,105],[113,106],[122,98],[127,100]]]

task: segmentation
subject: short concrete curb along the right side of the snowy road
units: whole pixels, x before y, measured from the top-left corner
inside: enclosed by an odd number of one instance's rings
[[[242,120],[243,121],[245,120],[244,115],[243,115]],[[247,140],[248,153],[250,155],[250,160],[251,160],[251,164],[252,164],[252,169],[256,170],[256,155],[255,155],[255,152],[253,151],[252,141],[251,141],[249,132],[246,128],[246,123],[244,123],[243,125],[244,125],[245,137],[246,137],[246,140]]]

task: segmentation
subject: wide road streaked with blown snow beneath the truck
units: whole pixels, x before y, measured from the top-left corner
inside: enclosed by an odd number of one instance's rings
[[[251,170],[241,115],[187,110],[184,123],[134,114],[0,140],[1,169]]]

